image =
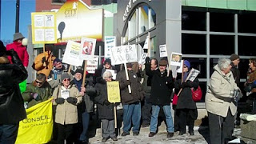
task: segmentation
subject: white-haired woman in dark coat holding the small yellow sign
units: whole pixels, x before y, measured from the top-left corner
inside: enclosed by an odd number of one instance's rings
[[[98,107],[98,118],[102,120],[102,142],[106,142],[109,138],[117,141],[118,138],[114,130],[114,104],[108,101],[106,90],[106,82],[112,81],[112,74],[110,71],[105,71],[102,78],[95,86],[97,96],[94,98]]]

